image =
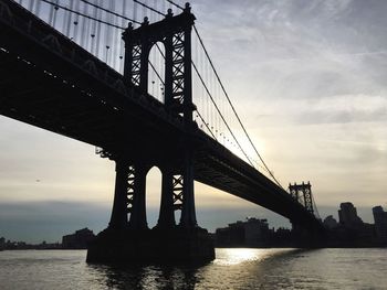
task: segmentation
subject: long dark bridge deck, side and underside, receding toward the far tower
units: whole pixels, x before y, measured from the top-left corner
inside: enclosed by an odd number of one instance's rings
[[[188,141],[195,148],[195,180],[294,224],[322,228],[284,190],[223,146],[197,128],[187,133],[182,119],[161,103],[125,84],[122,75],[50,26],[36,26],[33,34],[22,24],[0,21],[1,115],[101,147],[112,159],[124,154],[160,168]]]

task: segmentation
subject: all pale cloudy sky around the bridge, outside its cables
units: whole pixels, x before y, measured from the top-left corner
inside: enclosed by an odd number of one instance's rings
[[[310,181],[322,217],[353,202],[373,223],[387,197],[387,1],[192,0],[197,28],[253,142],[280,182]],[[92,146],[0,116],[0,236],[56,241],[106,227],[114,163]],[[157,221],[160,173],[147,185]],[[289,223],[196,183],[199,225]]]

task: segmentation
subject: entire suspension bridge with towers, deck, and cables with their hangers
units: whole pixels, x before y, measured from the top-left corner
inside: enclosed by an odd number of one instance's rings
[[[111,221],[90,261],[212,259],[194,181],[323,230],[311,184],[287,192],[257,150],[195,21],[169,0],[0,0],[0,114],[116,163]],[[149,230],[155,165],[161,204]]]

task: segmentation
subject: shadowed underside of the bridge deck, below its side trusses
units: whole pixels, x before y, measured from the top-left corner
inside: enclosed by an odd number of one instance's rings
[[[150,118],[143,120],[139,115],[144,111],[139,112],[133,104],[124,110],[116,109],[119,104],[112,103],[115,93],[112,89],[101,89],[108,90],[107,97],[90,95],[82,87],[73,87],[74,83],[64,82],[65,77],[52,75],[9,51],[0,51],[0,114],[12,119],[107,148],[107,151],[125,149],[128,154],[133,152],[140,160],[151,160],[155,165],[169,162],[167,157],[181,150],[184,133],[178,127],[160,123],[149,112]],[[118,98],[119,93],[115,94]],[[264,206],[294,223],[311,221],[308,213],[294,204],[285,191],[229,150],[200,131],[192,141],[198,144],[197,181]]]

